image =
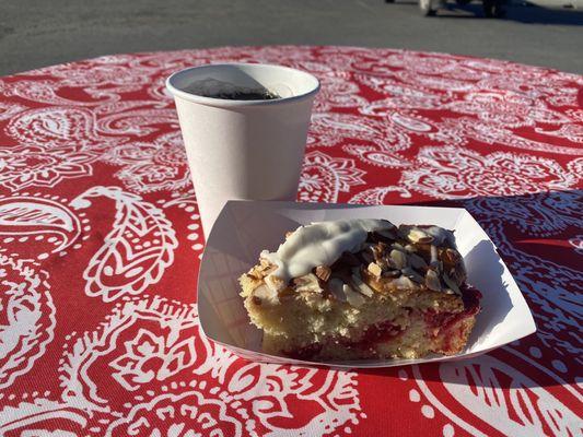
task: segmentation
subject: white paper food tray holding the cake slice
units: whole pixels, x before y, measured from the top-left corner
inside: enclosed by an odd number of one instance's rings
[[[261,331],[249,323],[238,295],[237,277],[257,263],[264,249],[275,251],[288,231],[312,222],[386,218],[395,225],[431,224],[455,229],[468,282],[482,294],[467,347],[454,356],[422,359],[305,362],[261,351]],[[362,206],[351,204],[229,201],[205,248],[198,277],[198,314],[203,333],[236,354],[257,362],[335,367],[390,367],[443,362],[483,354],[536,331],[524,297],[495,246],[464,209],[432,206]]]

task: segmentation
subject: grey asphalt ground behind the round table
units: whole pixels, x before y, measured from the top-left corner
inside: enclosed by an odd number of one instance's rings
[[[0,0],[0,75],[106,54],[269,44],[444,51],[583,73],[583,0],[535,1],[543,5],[514,4],[495,20],[478,2],[423,17],[413,0]]]

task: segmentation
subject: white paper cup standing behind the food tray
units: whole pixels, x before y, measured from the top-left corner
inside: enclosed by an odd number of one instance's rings
[[[281,98],[236,101],[206,97],[200,81],[263,87]],[[281,66],[224,63],[172,74],[180,130],[208,236],[228,200],[295,200],[316,78]]]

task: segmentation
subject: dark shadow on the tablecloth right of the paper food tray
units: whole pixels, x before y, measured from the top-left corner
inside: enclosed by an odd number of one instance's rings
[[[583,190],[408,204],[465,208],[470,212],[497,246],[538,327],[535,334],[482,356],[412,366],[413,376],[424,381],[470,383],[494,390],[557,386],[551,374],[560,375],[565,383],[576,383],[573,367],[560,374],[556,359],[569,362],[578,349],[571,342],[572,333],[579,332],[582,312]],[[400,375],[398,367],[355,371],[395,379]],[[505,377],[497,377],[497,373]],[[529,377],[533,373],[537,373],[536,378]]]

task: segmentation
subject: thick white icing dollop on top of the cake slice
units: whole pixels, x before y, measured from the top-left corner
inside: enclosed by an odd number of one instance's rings
[[[369,232],[393,228],[385,220],[339,220],[300,226],[277,252],[264,250],[261,258],[277,265],[271,274],[287,283],[312,272],[318,265],[331,265],[342,252],[360,250]],[[268,282],[269,283],[269,282]]]

